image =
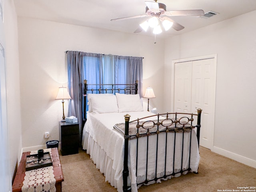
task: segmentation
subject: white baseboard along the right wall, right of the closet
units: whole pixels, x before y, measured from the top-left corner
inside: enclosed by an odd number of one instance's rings
[[[214,146],[212,148],[212,152],[218,153],[218,154],[220,154],[222,156],[228,157],[228,158],[233,159],[233,160],[235,160],[237,162],[240,162],[242,164],[246,164],[248,166],[256,168],[256,160],[249,159],[247,157],[244,157],[244,156],[232,153],[230,151],[218,148],[216,146]]]

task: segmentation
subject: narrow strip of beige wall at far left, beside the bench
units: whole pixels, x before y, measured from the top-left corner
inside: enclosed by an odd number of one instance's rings
[[[4,33],[6,56],[6,100],[9,138],[10,176],[20,161],[22,149],[20,112],[20,71],[17,15],[12,0],[4,0]]]

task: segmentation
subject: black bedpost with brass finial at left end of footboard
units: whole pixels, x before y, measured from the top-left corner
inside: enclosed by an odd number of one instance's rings
[[[129,169],[128,169],[128,141],[129,141],[129,121],[130,115],[126,114],[124,116],[125,119],[125,130],[124,130],[124,170],[123,170],[123,191],[128,191],[128,176],[129,176]]]

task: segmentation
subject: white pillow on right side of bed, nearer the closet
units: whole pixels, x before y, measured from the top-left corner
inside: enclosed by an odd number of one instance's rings
[[[116,93],[119,112],[143,111],[140,95]]]

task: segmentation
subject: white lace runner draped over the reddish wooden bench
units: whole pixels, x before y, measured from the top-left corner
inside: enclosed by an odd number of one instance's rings
[[[50,152],[51,148],[44,150]],[[32,151],[30,154],[37,154]],[[34,169],[25,172],[22,192],[56,192],[53,166]]]

